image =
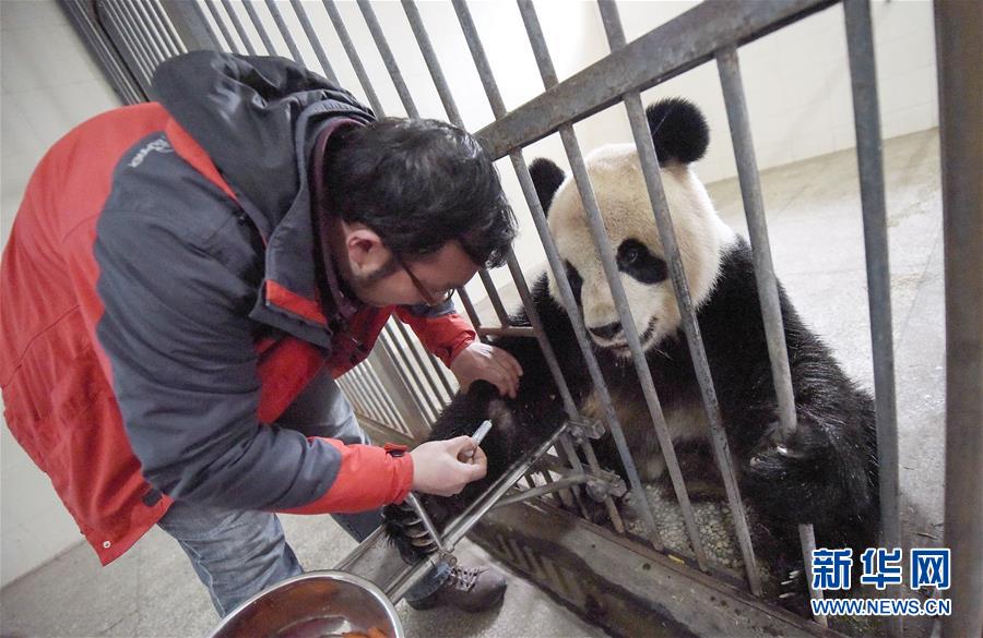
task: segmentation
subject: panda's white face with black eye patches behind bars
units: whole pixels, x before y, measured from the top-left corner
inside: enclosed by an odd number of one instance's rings
[[[636,147],[603,146],[587,157],[587,167],[642,348],[658,347],[676,332],[680,316]],[[662,183],[690,294],[699,306],[713,288],[721,249],[733,241],[734,232],[720,220],[689,166],[663,166]],[[630,357],[572,179],[557,190],[548,221],[591,338],[617,356]],[[549,291],[560,299],[553,273]]]

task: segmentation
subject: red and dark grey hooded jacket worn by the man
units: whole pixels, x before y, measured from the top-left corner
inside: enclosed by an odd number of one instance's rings
[[[395,313],[445,363],[452,306],[327,311],[308,158],[372,113],[293,62],[194,52],[158,103],[81,124],[44,157],[0,270],[11,432],[104,564],[171,499],[273,511],[399,502],[408,455],[277,428],[324,366],[362,361]]]

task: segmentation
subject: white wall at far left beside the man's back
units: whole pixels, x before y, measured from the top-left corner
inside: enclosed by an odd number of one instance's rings
[[[79,122],[118,105],[54,0],[0,1],[0,245],[47,147]],[[81,539],[48,478],[2,426],[0,583]]]

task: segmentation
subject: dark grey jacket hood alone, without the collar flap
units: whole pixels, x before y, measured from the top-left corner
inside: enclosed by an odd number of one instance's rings
[[[192,51],[162,63],[153,89],[264,237],[298,194],[309,198],[307,158],[325,120],[375,119],[351,93],[285,58]]]

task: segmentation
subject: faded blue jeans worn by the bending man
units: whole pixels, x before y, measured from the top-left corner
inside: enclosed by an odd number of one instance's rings
[[[308,384],[277,424],[308,436],[339,438],[346,444],[368,442],[352,406],[327,372]],[[382,520],[380,509],[331,516],[359,542]],[[157,525],[188,554],[220,616],[263,589],[303,571],[284,538],[280,519],[269,511],[175,502]],[[449,573],[450,566],[440,564],[407,592],[406,599],[419,600],[434,593]]]

